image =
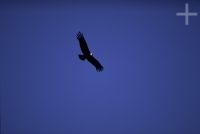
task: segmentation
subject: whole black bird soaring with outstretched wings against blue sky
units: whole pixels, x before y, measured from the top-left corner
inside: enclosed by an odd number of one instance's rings
[[[103,71],[104,67],[101,65],[101,63],[93,56],[93,53],[90,52],[87,42],[81,32],[77,33],[77,39],[79,40],[80,48],[82,51],[82,54],[79,54],[78,57],[80,60],[89,61],[97,70],[97,72]]]

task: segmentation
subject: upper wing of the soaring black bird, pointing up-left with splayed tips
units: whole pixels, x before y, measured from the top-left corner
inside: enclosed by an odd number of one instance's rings
[[[80,48],[81,51],[84,55],[89,55],[90,54],[90,50],[87,46],[87,42],[85,41],[85,38],[83,36],[83,34],[81,32],[77,33],[77,39],[79,40],[79,44],[80,44]]]

